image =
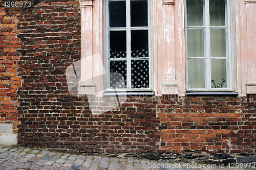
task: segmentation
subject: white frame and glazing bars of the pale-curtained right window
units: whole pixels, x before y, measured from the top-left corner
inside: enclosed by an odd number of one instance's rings
[[[227,0],[227,7],[225,10],[225,16],[227,17],[227,24],[228,26],[210,26],[210,17],[209,17],[209,0],[204,0],[203,5],[203,18],[205,22],[205,26],[187,26],[187,8],[186,8],[186,1],[184,0],[184,21],[185,21],[185,58],[186,58],[186,91],[187,92],[226,92],[226,91],[234,91],[234,85],[233,85],[233,65],[232,65],[232,54],[231,54],[231,21],[230,21],[230,1]],[[208,10],[208,12],[206,12]],[[191,57],[191,59],[206,59],[204,62],[204,70],[205,70],[205,88],[189,88],[188,87],[188,55],[187,55],[187,29],[199,29],[204,28],[204,50],[205,50],[205,56],[204,57]],[[228,49],[228,56],[227,57],[210,57],[210,28],[228,28],[228,34],[226,34],[226,49]],[[227,41],[228,40],[228,41]],[[228,43],[227,43],[228,42]],[[228,59],[226,60],[227,67],[227,87],[226,88],[211,88],[211,59]],[[229,83],[228,83],[229,82]]]

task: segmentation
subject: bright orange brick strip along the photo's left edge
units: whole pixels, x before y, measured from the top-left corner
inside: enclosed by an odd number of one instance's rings
[[[3,1],[0,1],[2,6]],[[0,8],[0,123],[12,124],[13,132],[17,133],[18,95],[16,90],[21,84],[21,78],[17,76],[17,62],[21,42],[17,34],[17,16],[20,8]],[[1,131],[2,132],[2,131]]]

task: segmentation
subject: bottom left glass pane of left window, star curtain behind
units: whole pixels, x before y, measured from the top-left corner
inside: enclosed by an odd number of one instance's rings
[[[126,61],[110,61],[110,88],[126,88]]]

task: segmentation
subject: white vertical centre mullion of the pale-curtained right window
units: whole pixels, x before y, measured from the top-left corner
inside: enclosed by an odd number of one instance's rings
[[[209,1],[205,1],[205,54],[206,54],[206,88],[211,88],[211,64],[210,64],[210,13],[209,13]]]

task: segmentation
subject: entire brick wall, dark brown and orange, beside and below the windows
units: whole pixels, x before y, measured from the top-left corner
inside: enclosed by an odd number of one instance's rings
[[[121,107],[91,114],[86,97],[69,94],[65,76],[80,59],[79,2],[32,4],[0,13],[1,123],[20,123],[20,147],[115,154],[255,152],[254,95],[129,96]],[[105,105],[100,99],[94,104]]]

